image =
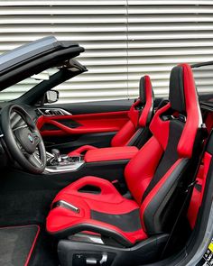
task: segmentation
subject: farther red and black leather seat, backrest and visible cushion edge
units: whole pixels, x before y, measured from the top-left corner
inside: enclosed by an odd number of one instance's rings
[[[129,110],[128,122],[113,137],[111,141],[112,147],[137,145],[140,148],[147,141],[147,133],[144,130],[153,115],[153,87],[149,76],[141,78],[139,88],[140,96]],[[138,142],[139,138],[140,142]],[[94,149],[98,148],[84,145],[75,151],[69,152],[69,156],[79,156],[86,151]]]

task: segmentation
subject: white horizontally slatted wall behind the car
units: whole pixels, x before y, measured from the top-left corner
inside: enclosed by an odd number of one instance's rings
[[[64,102],[135,97],[146,73],[165,95],[174,64],[213,60],[212,30],[212,0],[0,1],[0,52],[47,35],[85,47],[89,71],[59,87]],[[211,71],[198,83],[211,90]]]

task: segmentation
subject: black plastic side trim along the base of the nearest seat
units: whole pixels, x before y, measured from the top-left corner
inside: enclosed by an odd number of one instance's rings
[[[58,244],[58,254],[61,266],[71,266],[74,254],[107,254],[108,264],[113,266],[133,266],[144,265],[148,261],[157,261],[161,254],[163,245],[168,239],[168,234],[160,234],[150,237],[140,243],[136,243],[131,248],[115,247],[111,245],[97,243],[80,243],[69,240],[60,240]],[[165,264],[166,265],[166,264]]]

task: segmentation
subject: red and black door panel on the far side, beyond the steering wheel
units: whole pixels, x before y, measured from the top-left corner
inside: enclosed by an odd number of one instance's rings
[[[44,105],[62,108],[71,115],[42,115],[37,122],[47,151],[68,153],[82,145],[110,146],[116,132],[128,121],[133,100],[102,101],[80,104]]]

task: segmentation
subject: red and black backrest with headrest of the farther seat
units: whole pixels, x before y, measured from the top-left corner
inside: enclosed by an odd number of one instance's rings
[[[128,145],[139,137],[136,132],[146,127],[153,115],[153,87],[149,76],[140,79],[139,97],[131,106],[128,122],[119,130],[111,141],[112,147]]]

